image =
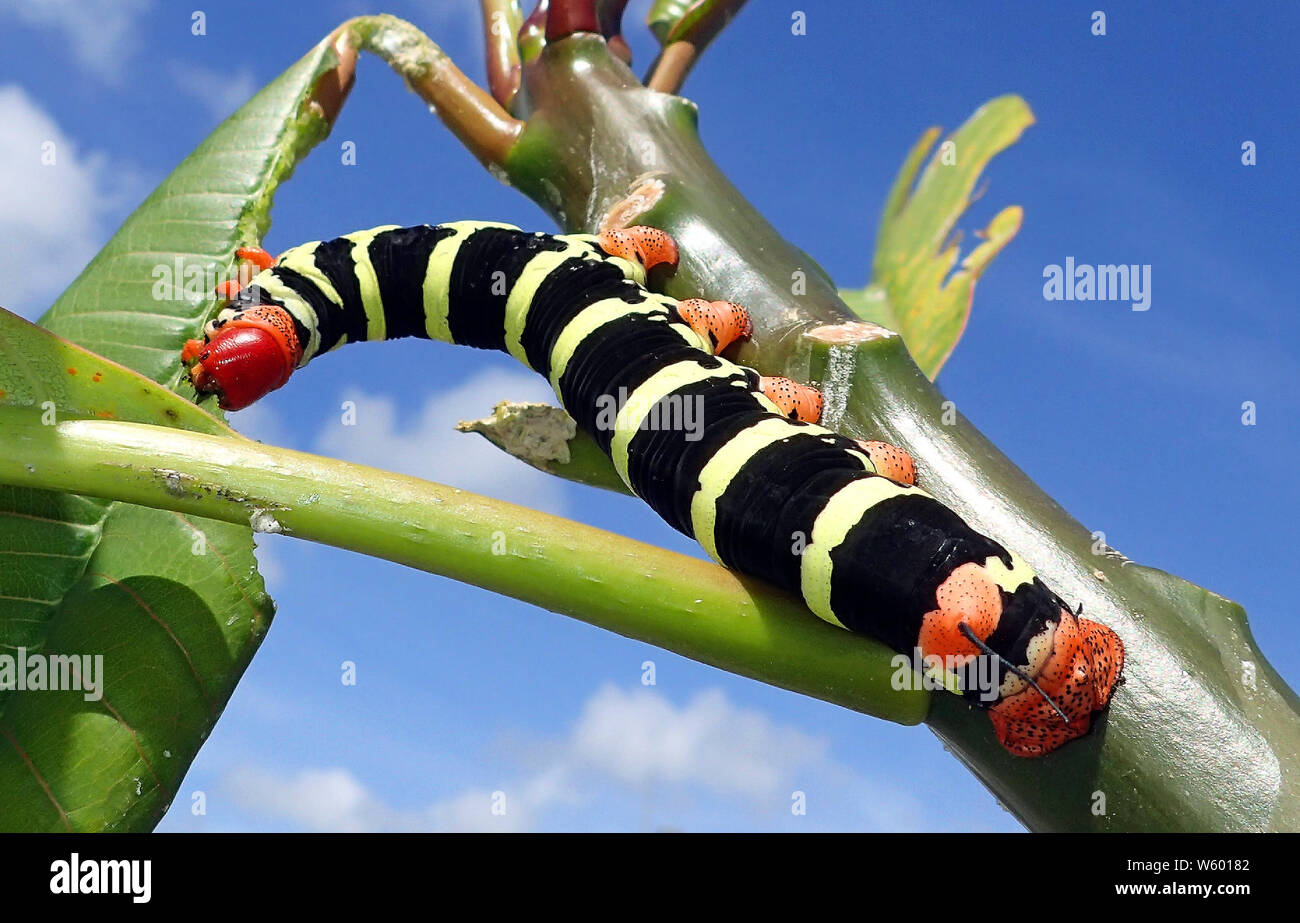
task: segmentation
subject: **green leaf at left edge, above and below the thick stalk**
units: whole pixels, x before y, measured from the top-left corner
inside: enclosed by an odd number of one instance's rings
[[[148,378],[3,311],[0,382],[0,406],[47,426],[103,419],[238,438]],[[27,469],[46,464],[34,456]],[[69,668],[100,698],[0,692],[0,828],[151,828],[270,621],[248,529],[70,494],[3,497],[4,654],[103,660]],[[32,602],[68,584],[57,601]]]

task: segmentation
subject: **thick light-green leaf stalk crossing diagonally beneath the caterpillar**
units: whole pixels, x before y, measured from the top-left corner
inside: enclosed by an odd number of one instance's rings
[[[251,524],[482,586],[901,724],[892,651],[705,560],[511,503],[242,438],[0,407],[0,482]]]

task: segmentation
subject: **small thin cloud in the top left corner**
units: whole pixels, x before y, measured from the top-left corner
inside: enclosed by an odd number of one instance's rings
[[[0,14],[26,26],[58,30],[81,66],[121,83],[124,61],[140,46],[139,20],[151,5],[151,0],[0,0]],[[179,27],[188,34],[188,22]]]

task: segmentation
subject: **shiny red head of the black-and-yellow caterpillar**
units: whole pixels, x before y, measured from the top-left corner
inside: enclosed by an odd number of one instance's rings
[[[281,387],[303,358],[294,320],[283,308],[259,304],[234,312],[187,341],[181,361],[199,394],[216,394],[222,410],[239,411]]]

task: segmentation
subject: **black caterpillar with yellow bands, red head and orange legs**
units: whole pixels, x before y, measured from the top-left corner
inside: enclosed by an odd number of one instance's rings
[[[919,653],[945,688],[988,710],[1010,753],[1086,734],[1110,701],[1124,658],[1113,630],[916,486],[906,452],[819,426],[816,389],[724,359],[751,332],[742,307],[646,287],[651,269],[677,263],[663,231],[458,221],[239,256],[257,273],[228,283],[226,306],[182,350],[195,390],[224,408],[356,341],[500,350],[550,381],[670,525],[826,621]],[[656,425],[672,419],[656,411],[686,400],[694,432]]]

